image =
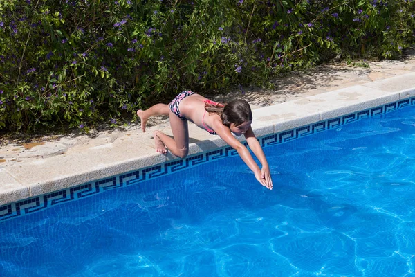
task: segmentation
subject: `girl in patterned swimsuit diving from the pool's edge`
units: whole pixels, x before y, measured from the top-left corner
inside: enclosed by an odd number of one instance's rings
[[[138,110],[137,115],[141,119],[142,132],[145,132],[145,125],[150,116],[169,116],[173,138],[163,132],[154,131],[157,152],[166,154],[168,149],[178,157],[186,157],[189,152],[187,120],[190,120],[210,134],[218,134],[223,141],[237,150],[241,159],[255,173],[259,183],[273,189],[270,168],[261,145],[252,132],[252,111],[245,100],[233,100],[228,104],[222,104],[192,91],[183,91],[169,105],[156,104],[145,111]],[[231,132],[237,136],[245,135],[250,149],[261,162],[261,170],[248,149],[235,139]]]

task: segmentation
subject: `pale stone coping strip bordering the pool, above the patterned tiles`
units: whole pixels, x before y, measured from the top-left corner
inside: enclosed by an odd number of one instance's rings
[[[415,72],[405,73],[253,109],[252,129],[257,137],[264,137],[414,96]],[[212,136],[195,125],[189,129],[190,155],[226,146],[219,136]],[[171,134],[169,129],[163,132]],[[177,159],[171,154],[156,153],[153,143],[147,133],[134,134],[129,139],[80,147],[47,159],[39,157],[0,168],[0,205]]]

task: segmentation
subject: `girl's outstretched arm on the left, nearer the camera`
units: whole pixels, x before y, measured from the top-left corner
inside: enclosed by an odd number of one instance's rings
[[[225,143],[228,143],[230,147],[232,147],[234,150],[237,150],[239,156],[241,159],[246,163],[248,168],[252,170],[255,174],[255,178],[261,183],[262,186],[266,186],[269,189],[272,189],[272,183],[269,184],[266,182],[265,178],[262,178],[263,173],[259,169],[259,166],[252,158],[248,148],[245,147],[240,141],[235,139],[234,136],[232,136],[232,133],[230,132],[230,129],[226,126],[224,126],[222,123],[215,124],[212,126],[214,129],[214,132],[218,134]],[[269,170],[268,170],[269,171]]]

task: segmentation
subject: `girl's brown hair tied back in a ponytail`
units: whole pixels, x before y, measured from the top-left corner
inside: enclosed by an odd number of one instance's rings
[[[208,101],[206,102],[205,110],[208,113],[219,114],[223,125],[228,127],[230,127],[231,123],[239,126],[252,120],[252,111],[246,100],[237,99],[223,104]]]

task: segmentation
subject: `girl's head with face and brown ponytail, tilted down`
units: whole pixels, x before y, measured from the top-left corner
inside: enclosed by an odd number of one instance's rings
[[[252,111],[246,100],[233,100],[225,105],[206,105],[206,111],[219,114],[222,123],[237,136],[244,134],[252,123]],[[220,109],[220,110],[219,110]]]

